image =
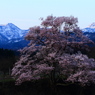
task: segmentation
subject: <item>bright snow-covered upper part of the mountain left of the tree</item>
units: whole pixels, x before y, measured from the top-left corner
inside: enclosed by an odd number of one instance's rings
[[[8,40],[22,38],[26,33],[27,30],[21,30],[12,23],[0,25],[0,34],[5,36]]]

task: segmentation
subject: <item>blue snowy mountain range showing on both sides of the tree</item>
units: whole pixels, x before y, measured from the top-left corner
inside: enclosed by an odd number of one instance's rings
[[[0,25],[0,48],[18,50],[28,45],[29,41],[24,39],[28,33],[12,23]],[[95,42],[95,23],[82,29],[84,35]]]

